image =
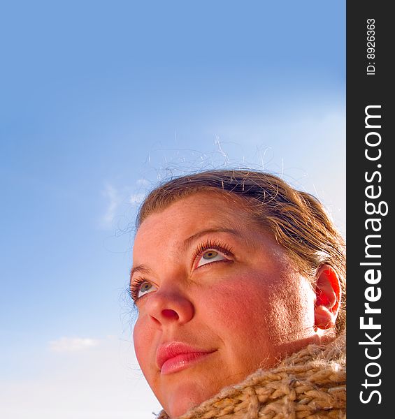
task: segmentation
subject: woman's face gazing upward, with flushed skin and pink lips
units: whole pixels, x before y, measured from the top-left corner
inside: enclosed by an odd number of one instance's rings
[[[315,335],[315,293],[273,237],[213,193],[148,216],[134,242],[134,346],[180,416]]]

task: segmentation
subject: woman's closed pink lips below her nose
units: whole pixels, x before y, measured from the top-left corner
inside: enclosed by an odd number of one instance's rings
[[[171,374],[189,367],[213,352],[215,351],[193,348],[182,342],[162,344],[157,350],[157,365],[161,374]]]

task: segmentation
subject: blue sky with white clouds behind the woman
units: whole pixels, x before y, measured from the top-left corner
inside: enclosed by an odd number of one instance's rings
[[[0,13],[0,416],[151,418],[136,207],[264,168],[345,234],[345,1],[13,1]]]

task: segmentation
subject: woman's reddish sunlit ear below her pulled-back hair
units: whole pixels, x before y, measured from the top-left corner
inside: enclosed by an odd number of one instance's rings
[[[338,275],[329,265],[319,267],[315,281],[315,328],[333,328],[338,316],[341,288]]]

